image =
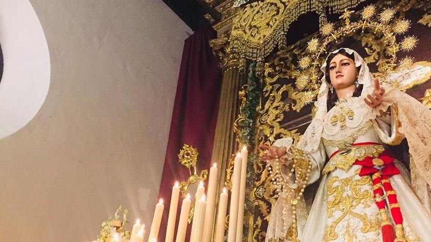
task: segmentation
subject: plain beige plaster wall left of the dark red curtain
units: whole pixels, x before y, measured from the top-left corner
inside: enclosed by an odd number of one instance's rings
[[[0,241],[91,241],[120,204],[148,224],[191,30],[161,0],[30,2],[51,86],[0,140]]]

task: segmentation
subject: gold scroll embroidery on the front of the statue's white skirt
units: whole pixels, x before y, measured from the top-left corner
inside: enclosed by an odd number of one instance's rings
[[[335,212],[341,212],[341,214],[332,223],[326,227],[325,234],[322,240],[325,242],[333,241],[338,238],[338,234],[335,232],[336,227],[342,221],[347,221],[345,225],[345,237],[343,241],[353,241],[353,234],[359,234],[359,231],[351,230],[352,224],[355,220],[359,220],[361,223],[360,232],[362,234],[369,232],[377,232],[380,230],[380,220],[378,212],[374,215],[367,216],[366,213],[357,213],[354,210],[362,205],[364,208],[371,207],[374,204],[373,193],[371,191],[371,177],[370,176],[359,176],[359,169],[355,172],[355,175],[348,176],[340,179],[338,176],[331,177],[327,184],[327,217],[328,219],[335,216]],[[365,189],[363,186],[367,186]],[[347,226],[347,227],[346,227]],[[376,234],[377,237],[377,234]]]

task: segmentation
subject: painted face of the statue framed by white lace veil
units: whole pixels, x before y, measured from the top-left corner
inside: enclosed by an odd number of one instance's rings
[[[355,62],[345,55],[335,55],[329,64],[329,77],[335,90],[355,85],[357,75]]]

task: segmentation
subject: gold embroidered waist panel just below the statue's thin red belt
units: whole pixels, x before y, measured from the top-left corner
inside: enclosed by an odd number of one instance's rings
[[[322,174],[328,174],[339,168],[347,172],[356,160],[363,160],[367,156],[377,157],[384,151],[383,145],[352,146],[349,151],[338,152],[323,168]]]

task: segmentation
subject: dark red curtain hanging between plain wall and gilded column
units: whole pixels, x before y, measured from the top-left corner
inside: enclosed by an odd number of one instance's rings
[[[197,148],[199,170],[211,166],[221,88],[218,58],[208,44],[215,38],[216,31],[207,27],[194,32],[184,44],[168,149],[159,190],[159,198],[165,200],[165,210],[157,241],[165,241],[172,186],[175,181],[187,180],[189,177],[187,168],[178,162],[177,154],[183,144]],[[177,218],[180,214],[181,200],[180,198]]]

